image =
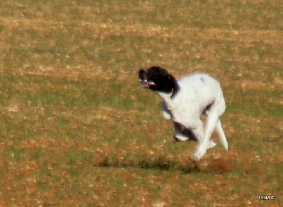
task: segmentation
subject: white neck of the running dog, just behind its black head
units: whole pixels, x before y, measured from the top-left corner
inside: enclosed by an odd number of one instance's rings
[[[178,93],[175,93],[174,95],[172,95],[173,92],[172,93],[157,92],[157,93],[166,103],[166,107],[170,111],[178,110],[178,107],[180,107],[180,105],[183,102],[182,90],[179,90]]]

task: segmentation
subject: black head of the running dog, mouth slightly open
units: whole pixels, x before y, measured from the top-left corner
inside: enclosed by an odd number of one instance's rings
[[[166,69],[153,66],[150,69],[139,71],[139,81],[142,86],[161,93],[172,93],[173,97],[178,92],[178,83]]]

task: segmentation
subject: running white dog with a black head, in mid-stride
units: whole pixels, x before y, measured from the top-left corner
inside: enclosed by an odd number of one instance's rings
[[[197,141],[197,150],[191,155],[199,161],[208,149],[216,143],[209,138],[214,129],[220,136],[220,143],[228,150],[228,142],[219,117],[226,105],[221,86],[205,73],[195,73],[178,81],[166,69],[153,66],[139,71],[142,86],[154,90],[162,98],[163,116],[173,119],[175,134],[173,141]],[[200,115],[206,116],[203,126]]]

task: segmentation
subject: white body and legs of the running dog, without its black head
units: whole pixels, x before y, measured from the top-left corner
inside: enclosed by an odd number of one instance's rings
[[[166,119],[172,118],[175,124],[175,136],[173,136],[175,141],[189,139],[183,130],[190,130],[198,142],[192,160],[198,161],[207,149],[216,146],[214,141],[209,141],[212,132],[216,129],[221,144],[228,150],[226,136],[219,119],[226,108],[219,82],[205,73],[196,73],[180,79],[178,85],[180,90],[174,97],[171,97],[170,93],[157,92],[163,99],[163,116]],[[207,117],[205,126],[200,120],[201,114]]]

